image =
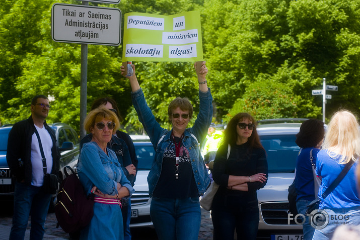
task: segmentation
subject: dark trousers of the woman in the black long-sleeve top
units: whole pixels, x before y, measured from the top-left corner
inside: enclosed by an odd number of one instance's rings
[[[235,229],[238,239],[255,240],[259,227],[257,201],[238,204],[237,197],[229,197],[226,204],[213,201],[211,219],[214,227],[213,239],[233,240]]]

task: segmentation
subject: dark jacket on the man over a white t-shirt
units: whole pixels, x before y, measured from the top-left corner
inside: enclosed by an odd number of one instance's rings
[[[56,145],[55,131],[51,129],[44,121],[44,127],[49,132],[52,139],[52,169],[51,173],[58,176],[60,168],[60,152]],[[31,138],[35,133],[35,126],[33,118],[30,116],[28,119],[16,123],[9,133],[8,150],[6,160],[9,168],[21,182],[25,179],[25,183],[31,185],[32,178],[32,164],[31,164]],[[23,162],[20,166],[19,159]]]

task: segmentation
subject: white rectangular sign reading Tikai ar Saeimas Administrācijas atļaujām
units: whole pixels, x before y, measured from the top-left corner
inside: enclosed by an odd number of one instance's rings
[[[121,11],[82,5],[54,4],[51,37],[55,42],[120,45]]]

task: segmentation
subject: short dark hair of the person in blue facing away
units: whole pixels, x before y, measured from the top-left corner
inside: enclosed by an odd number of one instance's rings
[[[311,118],[300,126],[295,142],[300,148],[313,148],[320,143],[324,135],[324,123],[319,119]]]

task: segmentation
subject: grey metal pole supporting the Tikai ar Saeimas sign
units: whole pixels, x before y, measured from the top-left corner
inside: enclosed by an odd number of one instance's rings
[[[89,3],[83,1],[88,6]],[[86,118],[86,101],[88,92],[88,44],[81,44],[81,80],[80,80],[80,139],[86,135],[84,121]]]

